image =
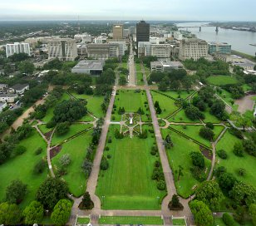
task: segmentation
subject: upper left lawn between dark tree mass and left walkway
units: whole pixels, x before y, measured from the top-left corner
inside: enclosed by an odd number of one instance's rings
[[[104,117],[104,112],[101,110],[101,104],[104,101],[104,96],[89,96],[89,95],[78,95],[76,93],[72,93],[76,98],[86,99],[87,101],[87,109],[91,112],[92,115],[95,115],[97,118]]]

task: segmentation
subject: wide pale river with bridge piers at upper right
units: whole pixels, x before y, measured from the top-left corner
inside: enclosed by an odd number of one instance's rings
[[[233,50],[255,56],[256,47],[249,44],[256,44],[256,32],[234,31],[219,27],[219,32],[216,33],[216,27],[204,27],[207,24],[208,22],[184,22],[177,23],[176,26],[186,27],[179,30],[188,30],[207,42],[228,42]],[[199,26],[202,26],[201,32],[199,32]]]

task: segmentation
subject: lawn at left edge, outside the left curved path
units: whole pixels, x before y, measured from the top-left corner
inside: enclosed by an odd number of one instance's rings
[[[27,195],[21,204],[21,207],[25,208],[35,199],[37,189],[47,178],[47,166],[42,174],[33,174],[33,168],[37,161],[47,157],[47,144],[37,131],[33,130],[32,135],[26,140],[22,140],[20,145],[25,146],[27,151],[0,165],[0,200],[5,198],[6,188],[11,181],[20,179],[24,184],[27,184],[28,189]],[[41,155],[35,155],[35,150],[39,147],[42,147],[43,152]]]

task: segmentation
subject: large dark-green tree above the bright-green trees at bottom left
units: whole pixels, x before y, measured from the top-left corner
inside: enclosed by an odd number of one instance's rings
[[[60,199],[65,199],[68,188],[62,179],[47,178],[37,190],[36,199],[45,209],[53,209]]]

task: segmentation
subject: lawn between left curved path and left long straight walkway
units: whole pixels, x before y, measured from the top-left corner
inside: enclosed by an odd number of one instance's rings
[[[66,180],[71,194],[76,197],[84,194],[86,189],[86,176],[81,169],[81,165],[86,157],[86,149],[90,142],[91,130],[63,144],[61,152],[52,159],[53,169],[56,171],[60,167],[59,159],[62,155],[70,155],[71,165],[67,166],[67,174],[62,178]]]

